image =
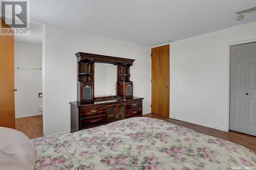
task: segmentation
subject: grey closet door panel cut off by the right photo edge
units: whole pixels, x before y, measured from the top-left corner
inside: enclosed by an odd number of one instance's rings
[[[246,44],[245,133],[256,136],[256,42]]]

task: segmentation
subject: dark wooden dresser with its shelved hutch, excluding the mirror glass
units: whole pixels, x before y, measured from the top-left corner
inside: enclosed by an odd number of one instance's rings
[[[143,98],[133,96],[133,82],[130,81],[130,66],[135,60],[80,52],[75,55],[77,102],[70,102],[71,132],[142,116]],[[95,63],[116,65],[116,95],[94,95]]]

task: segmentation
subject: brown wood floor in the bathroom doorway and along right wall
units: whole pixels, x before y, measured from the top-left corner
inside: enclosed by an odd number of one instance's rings
[[[143,115],[145,117],[154,117],[163,119],[166,122],[176,124],[179,126],[183,126],[189,129],[193,129],[197,132],[219,137],[225,140],[229,140],[234,143],[238,143],[240,145],[243,145],[246,148],[249,148],[250,150],[256,152],[256,137],[239,133],[239,132],[224,132],[217,129],[207,128],[200,125],[190,124],[187,122],[182,122],[180,120],[175,120],[171,118],[162,117],[156,114],[146,114]],[[16,118],[16,130],[21,131],[25,133],[30,139],[36,138],[36,137],[42,137],[44,136],[42,131],[42,116],[31,116],[31,117],[24,117],[24,118]]]

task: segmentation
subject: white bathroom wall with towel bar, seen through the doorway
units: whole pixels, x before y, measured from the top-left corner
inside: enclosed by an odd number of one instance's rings
[[[41,67],[42,45],[14,43],[15,117],[41,114],[37,106],[42,105],[42,71],[39,69],[17,69],[17,67]]]

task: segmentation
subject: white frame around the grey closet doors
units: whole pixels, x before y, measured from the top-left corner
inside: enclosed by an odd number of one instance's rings
[[[230,42],[228,43],[228,113],[227,113],[227,130],[225,131],[229,131],[229,115],[230,115],[230,46],[231,45],[239,45],[239,44],[245,44],[245,43],[251,43],[251,42],[256,42],[256,38],[253,39],[249,39],[249,40],[243,40],[243,41],[236,41],[236,42]]]

